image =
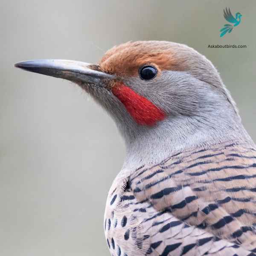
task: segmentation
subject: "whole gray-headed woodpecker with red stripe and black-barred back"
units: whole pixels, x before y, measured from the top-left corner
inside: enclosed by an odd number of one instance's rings
[[[204,55],[128,41],[98,64],[15,67],[73,81],[116,123],[126,157],[103,221],[112,256],[256,256],[256,145]]]

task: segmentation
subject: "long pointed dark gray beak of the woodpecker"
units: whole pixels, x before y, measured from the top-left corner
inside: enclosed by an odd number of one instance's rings
[[[23,70],[34,73],[54,76],[74,82],[100,84],[102,80],[114,79],[115,76],[99,70],[98,65],[81,61],[69,60],[34,60],[23,61],[15,64]]]

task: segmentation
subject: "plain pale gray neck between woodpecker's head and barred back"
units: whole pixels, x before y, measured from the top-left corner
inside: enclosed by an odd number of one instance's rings
[[[154,165],[166,158],[188,149],[237,142],[253,144],[241,119],[225,101],[222,108],[202,112],[198,116],[169,116],[155,127],[134,125],[122,127],[126,158],[122,170],[133,172],[143,165]]]

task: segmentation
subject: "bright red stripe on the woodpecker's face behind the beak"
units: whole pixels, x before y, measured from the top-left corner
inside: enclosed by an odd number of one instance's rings
[[[152,126],[157,121],[161,121],[165,118],[165,114],[162,110],[124,84],[116,84],[112,88],[112,92],[140,125]]]

